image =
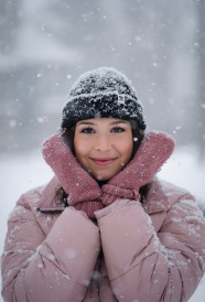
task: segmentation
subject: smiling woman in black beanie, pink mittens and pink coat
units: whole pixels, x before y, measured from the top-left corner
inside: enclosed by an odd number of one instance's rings
[[[43,144],[55,176],[9,218],[4,301],[188,301],[205,270],[205,219],[155,176],[173,139],[145,134],[134,88],[106,67],[73,85],[61,130]]]

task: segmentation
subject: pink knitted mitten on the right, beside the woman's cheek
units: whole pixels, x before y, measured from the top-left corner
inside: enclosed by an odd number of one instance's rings
[[[139,201],[139,188],[153,179],[173,150],[174,140],[166,133],[147,134],[128,165],[102,185],[102,204],[109,205],[119,197]]]

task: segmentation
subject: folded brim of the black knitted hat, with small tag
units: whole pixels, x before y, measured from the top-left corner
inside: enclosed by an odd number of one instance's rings
[[[130,95],[95,94],[80,95],[67,101],[63,109],[62,130],[69,129],[77,121],[93,118],[116,118],[134,120],[144,130],[145,120],[141,104]],[[69,118],[67,118],[69,117]]]

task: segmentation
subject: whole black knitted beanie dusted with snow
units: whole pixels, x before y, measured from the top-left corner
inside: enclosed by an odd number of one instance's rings
[[[143,108],[130,80],[111,67],[100,67],[79,76],[63,108],[62,130],[79,120],[118,118],[132,120],[144,130]]]

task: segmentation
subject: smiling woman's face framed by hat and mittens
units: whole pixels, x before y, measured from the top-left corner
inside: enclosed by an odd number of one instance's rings
[[[75,155],[98,181],[108,181],[129,162],[133,148],[131,125],[127,120],[98,118],[76,123]]]

